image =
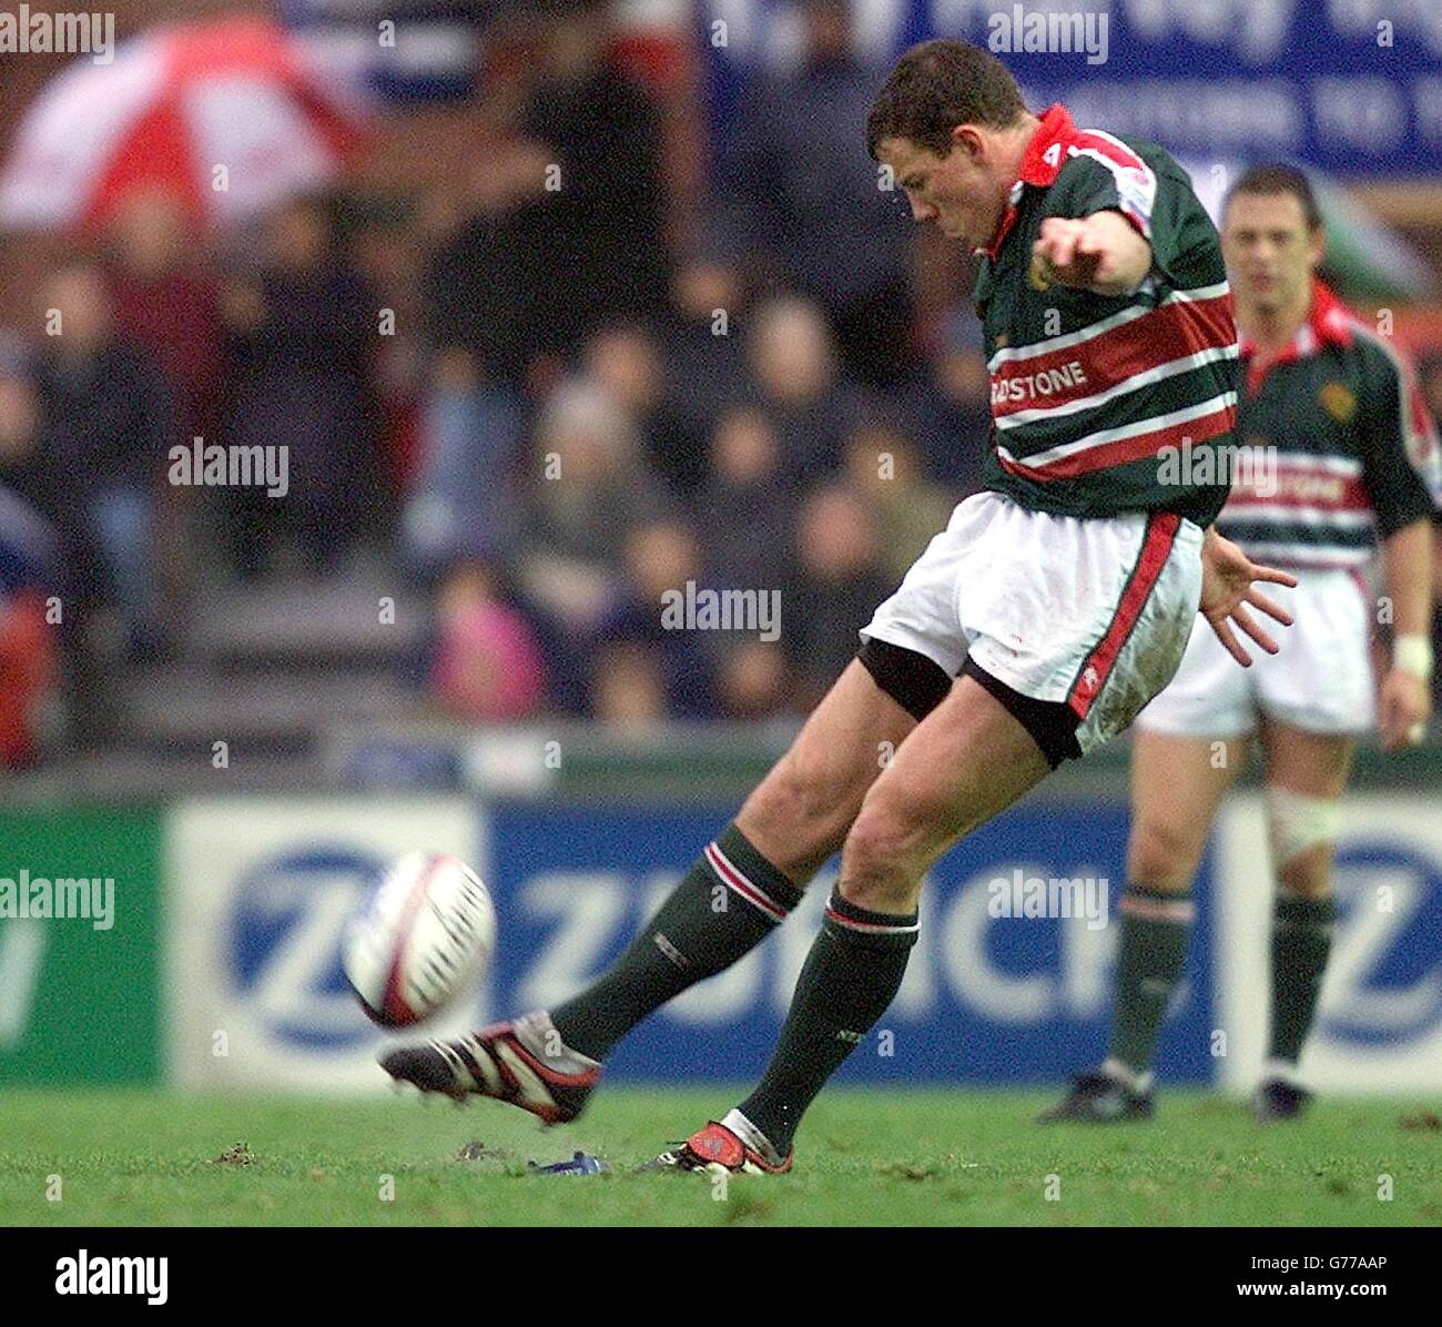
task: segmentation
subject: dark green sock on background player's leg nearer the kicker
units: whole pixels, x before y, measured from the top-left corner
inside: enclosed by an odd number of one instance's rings
[[[1164,894],[1138,884],[1129,884],[1122,894],[1116,1013],[1107,1056],[1133,1075],[1151,1069],[1156,1033],[1187,956],[1194,913],[1190,894]]]

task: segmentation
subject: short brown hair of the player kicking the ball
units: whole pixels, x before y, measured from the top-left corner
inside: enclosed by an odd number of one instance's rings
[[[1007,128],[1027,113],[1017,79],[989,50],[968,42],[913,46],[887,76],[867,117],[867,151],[883,138],[910,138],[945,157],[957,124]]]

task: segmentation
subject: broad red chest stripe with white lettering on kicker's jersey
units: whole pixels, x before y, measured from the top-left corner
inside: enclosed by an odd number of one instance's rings
[[[1161,304],[1080,345],[1002,362],[992,374],[992,415],[1064,405],[1184,355],[1236,345],[1236,339],[1230,294]],[[1054,389],[1038,392],[1037,379]],[[1011,387],[1014,381],[1018,387]]]

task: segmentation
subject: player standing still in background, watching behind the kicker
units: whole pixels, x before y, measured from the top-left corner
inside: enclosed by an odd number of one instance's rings
[[[1439,450],[1416,379],[1317,280],[1322,226],[1301,172],[1259,166],[1242,176],[1221,248],[1246,366],[1237,438],[1247,450],[1217,528],[1296,574],[1285,600],[1296,627],[1252,672],[1194,630],[1177,676],[1138,718],[1112,1044],[1043,1122],[1151,1118],[1152,1054],[1182,968],[1191,880],[1253,739],[1276,877],[1270,1046],[1253,1106],[1260,1119],[1304,1109],[1296,1062],[1331,945],[1337,802],[1357,734],[1380,721],[1386,750],[1415,744],[1432,710]],[[1390,606],[1381,620],[1394,633],[1380,715],[1360,577],[1377,544]]]

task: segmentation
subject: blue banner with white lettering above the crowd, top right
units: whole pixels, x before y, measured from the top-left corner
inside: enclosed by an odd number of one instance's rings
[[[747,76],[803,49],[793,0],[704,0],[724,121]],[[1292,156],[1337,175],[1442,169],[1436,0],[865,0],[852,32],[878,71],[914,42],[965,38],[1027,101],[1191,162]]]

